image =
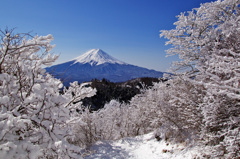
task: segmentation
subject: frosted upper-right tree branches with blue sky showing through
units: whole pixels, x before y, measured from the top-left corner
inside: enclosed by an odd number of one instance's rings
[[[231,16],[237,16],[239,6],[238,0],[217,0],[212,3],[202,4],[200,8],[181,13],[178,21],[174,23],[175,29],[162,30],[160,37],[169,39],[167,45],[173,48],[167,50],[169,56],[178,55],[180,61],[174,62],[176,70],[187,70],[187,73],[198,72],[195,65],[200,57],[204,57],[206,52],[202,48],[213,44],[220,36],[220,31],[216,31],[219,25],[224,24]],[[175,70],[174,69],[174,70]]]

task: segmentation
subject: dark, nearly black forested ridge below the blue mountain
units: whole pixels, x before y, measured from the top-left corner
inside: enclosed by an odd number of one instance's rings
[[[154,83],[160,80],[158,78],[143,77],[127,82],[114,83],[107,79],[94,79],[89,84],[89,87],[97,90],[96,95],[82,99],[82,104],[96,111],[103,108],[111,100],[117,100],[120,103],[129,103],[132,97],[142,93],[144,89],[151,88]]]

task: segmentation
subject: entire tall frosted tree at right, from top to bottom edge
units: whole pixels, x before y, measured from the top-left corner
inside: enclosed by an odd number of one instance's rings
[[[213,156],[240,156],[240,1],[217,0],[178,16],[176,28],[162,31],[196,86],[204,87],[201,108]],[[190,69],[189,69],[190,68]]]

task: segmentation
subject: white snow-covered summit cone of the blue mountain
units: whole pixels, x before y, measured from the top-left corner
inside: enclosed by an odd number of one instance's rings
[[[101,65],[104,63],[112,63],[112,64],[126,64],[110,55],[101,49],[92,49],[82,54],[81,56],[74,59],[75,63],[86,64],[89,63],[91,65]]]

